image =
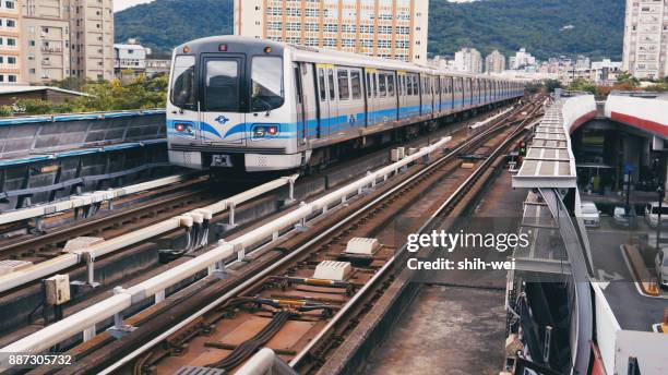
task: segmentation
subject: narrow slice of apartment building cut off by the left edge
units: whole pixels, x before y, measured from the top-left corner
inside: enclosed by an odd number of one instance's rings
[[[20,5],[17,0],[0,1],[0,84],[24,80]]]

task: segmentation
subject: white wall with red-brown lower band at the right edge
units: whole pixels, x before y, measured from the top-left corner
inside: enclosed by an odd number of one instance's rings
[[[668,140],[668,100],[610,95],[606,117]]]

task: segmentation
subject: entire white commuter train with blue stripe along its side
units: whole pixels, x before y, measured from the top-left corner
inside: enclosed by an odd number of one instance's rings
[[[174,51],[169,160],[198,170],[309,171],[524,95],[521,82],[240,36]]]

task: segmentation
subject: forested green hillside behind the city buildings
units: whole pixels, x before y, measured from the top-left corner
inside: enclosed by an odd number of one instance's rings
[[[621,59],[624,0],[430,1],[429,51],[474,46],[506,56],[526,47],[539,59],[560,55]],[[232,0],[156,0],[116,13],[116,40],[136,38],[156,51],[199,37],[230,34]]]

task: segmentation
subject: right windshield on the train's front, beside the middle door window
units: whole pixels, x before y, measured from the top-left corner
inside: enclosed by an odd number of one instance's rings
[[[283,59],[254,57],[252,63],[251,111],[270,111],[283,106]]]

